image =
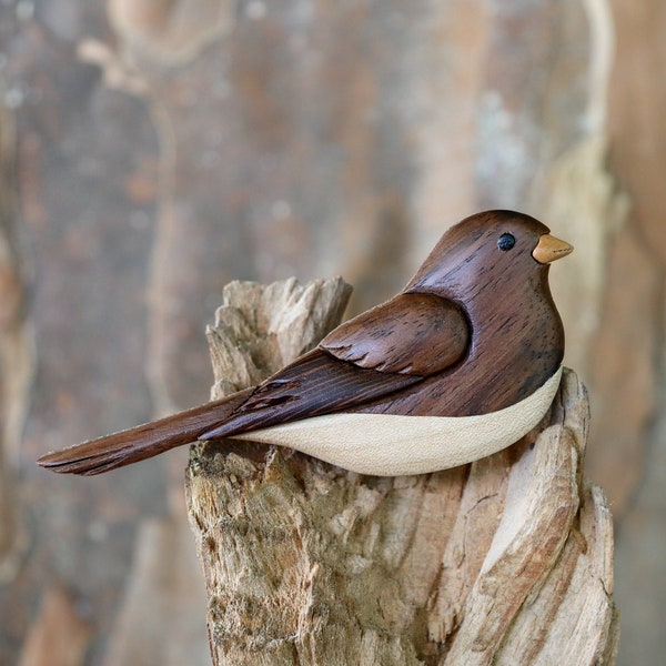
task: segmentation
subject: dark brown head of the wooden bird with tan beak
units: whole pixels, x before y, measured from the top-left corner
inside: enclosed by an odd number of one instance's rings
[[[572,251],[529,215],[486,211],[446,231],[406,291],[466,301],[491,284],[543,284],[549,264]]]

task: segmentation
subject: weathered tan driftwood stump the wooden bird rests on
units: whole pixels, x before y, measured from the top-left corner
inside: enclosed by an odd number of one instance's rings
[[[213,396],[316,344],[347,297],[341,280],[228,285],[209,331]],[[186,496],[213,663],[612,664],[613,532],[583,474],[588,420],[567,371],[534,433],[434,474],[195,447]]]

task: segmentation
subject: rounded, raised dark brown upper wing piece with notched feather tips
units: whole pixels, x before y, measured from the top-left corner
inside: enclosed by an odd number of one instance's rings
[[[320,349],[359,367],[428,376],[457,363],[470,335],[467,319],[455,303],[406,293],[337,326]]]

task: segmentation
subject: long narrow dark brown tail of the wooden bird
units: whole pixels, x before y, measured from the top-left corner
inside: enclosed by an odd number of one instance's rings
[[[48,453],[37,462],[59,474],[91,476],[143,461],[195,442],[199,435],[224,423],[233,410],[248,398],[250,392],[249,389],[159,421]]]

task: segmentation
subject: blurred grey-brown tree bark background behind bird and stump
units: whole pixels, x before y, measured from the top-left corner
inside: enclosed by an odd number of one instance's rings
[[[225,282],[342,274],[356,312],[484,208],[576,246],[618,662],[657,663],[665,69],[658,0],[0,3],[0,663],[210,663],[186,451],[34,458],[203,402]]]

